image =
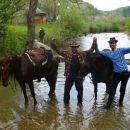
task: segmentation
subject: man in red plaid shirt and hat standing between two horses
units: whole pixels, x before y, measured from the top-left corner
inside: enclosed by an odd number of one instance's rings
[[[56,39],[52,39],[51,47],[65,59],[65,72],[64,75],[66,76],[65,80],[65,88],[64,88],[64,103],[65,105],[69,104],[70,100],[70,91],[75,83],[76,90],[78,92],[77,99],[78,104],[82,105],[83,100],[83,79],[78,77],[80,63],[83,62],[83,52],[79,52],[79,44],[75,41],[71,41],[70,48],[71,51],[62,50],[58,46],[58,41]],[[89,52],[93,51],[94,48],[91,47]]]

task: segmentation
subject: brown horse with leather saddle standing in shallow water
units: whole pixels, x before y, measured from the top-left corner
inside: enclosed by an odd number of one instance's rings
[[[56,87],[56,79],[57,79],[57,70],[58,70],[58,62],[53,57],[52,52],[45,51],[41,58],[39,58],[39,54],[29,52],[24,53],[21,56],[10,56],[5,57],[1,64],[1,71],[2,71],[2,83],[4,86],[8,85],[8,78],[9,78],[9,70],[12,74],[14,74],[15,79],[18,81],[24,95],[25,99],[25,105],[28,104],[28,97],[26,93],[26,83],[29,85],[31,95],[34,99],[34,105],[37,104],[37,100],[35,98],[35,92],[34,92],[34,79],[39,79],[42,77],[45,77],[47,80],[50,91],[49,96],[53,96],[55,92]],[[41,52],[40,52],[41,53]],[[34,55],[32,57],[32,55]],[[3,64],[6,61],[6,64]],[[35,63],[35,65],[34,65]],[[39,64],[40,69],[39,69]],[[40,75],[39,75],[40,70]],[[39,77],[40,76],[40,77]],[[39,81],[39,80],[38,80]]]

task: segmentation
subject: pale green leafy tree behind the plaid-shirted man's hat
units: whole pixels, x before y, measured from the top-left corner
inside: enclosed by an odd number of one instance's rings
[[[71,38],[77,37],[84,32],[85,21],[77,3],[62,1],[59,7],[59,23],[64,28],[62,35]]]

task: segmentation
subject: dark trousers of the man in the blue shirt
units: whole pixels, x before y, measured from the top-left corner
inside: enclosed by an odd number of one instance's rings
[[[116,89],[117,89],[119,82],[121,82],[119,105],[122,105],[128,78],[129,78],[128,71],[124,71],[121,73],[116,73],[116,72],[114,73],[112,85],[109,90],[109,98],[108,98],[108,102],[107,102],[107,107],[110,107],[112,104],[112,101],[113,101],[114,95],[116,94]]]

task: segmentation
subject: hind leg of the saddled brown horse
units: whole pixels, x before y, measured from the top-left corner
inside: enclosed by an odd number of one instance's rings
[[[56,80],[57,80],[57,76],[46,76],[45,77],[49,86],[50,86],[50,91],[49,91],[49,97],[52,97],[55,94],[55,87],[56,87]]]

